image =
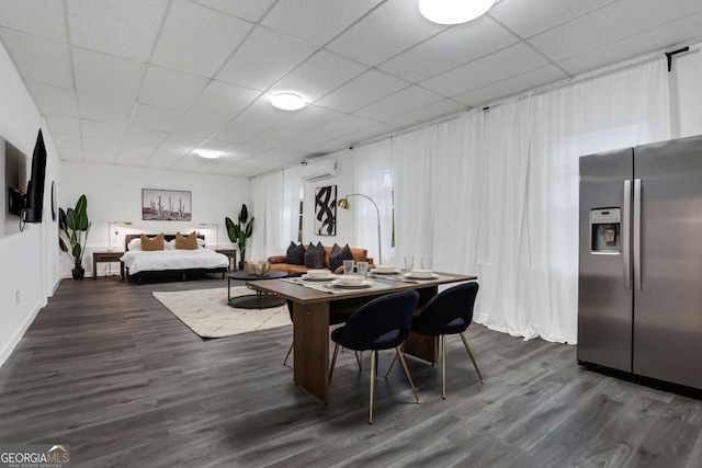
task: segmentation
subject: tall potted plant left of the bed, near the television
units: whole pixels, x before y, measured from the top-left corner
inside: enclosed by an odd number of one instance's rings
[[[88,198],[81,195],[75,208],[58,209],[58,247],[66,252],[73,262],[73,279],[82,279],[86,270],[83,269],[83,254],[86,253],[86,241],[90,231],[90,220],[88,219]],[[70,249],[64,241],[64,237]]]

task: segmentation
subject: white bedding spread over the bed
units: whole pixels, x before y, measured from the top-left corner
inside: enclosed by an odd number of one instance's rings
[[[168,270],[228,267],[229,258],[212,249],[157,250],[143,252],[129,250],[122,255],[129,274],[139,272],[162,272]]]

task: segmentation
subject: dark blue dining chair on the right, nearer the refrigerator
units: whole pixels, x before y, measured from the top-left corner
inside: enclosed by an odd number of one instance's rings
[[[477,283],[465,283],[445,289],[424,306],[421,313],[412,319],[412,332],[423,335],[439,336],[439,354],[441,354],[441,398],[446,398],[446,335],[458,334],[465,345],[465,351],[473,362],[475,370],[478,373],[480,384],[484,383],[483,375],[475,361],[475,356],[468,346],[464,331],[473,320],[473,307],[478,295]],[[390,362],[387,372],[390,372],[395,357]],[[387,374],[385,374],[387,375]]]

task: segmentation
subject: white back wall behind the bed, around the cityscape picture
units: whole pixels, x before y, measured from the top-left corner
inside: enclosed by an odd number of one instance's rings
[[[131,226],[113,225],[112,244],[115,250],[124,248],[125,233],[188,233],[193,230],[205,235],[208,246],[216,243],[216,228],[200,224],[219,225],[219,244],[230,246],[224,219],[236,219],[242,203],[249,203],[250,183],[247,178],[227,175],[193,174],[129,168],[106,164],[61,162],[61,186],[59,206],[75,206],[80,195],[88,198],[88,217],[92,222],[83,259],[86,275],[92,275],[92,251],[107,248],[110,221],[132,221]],[[141,189],[190,191],[192,196],[192,221],[144,221],[141,220]],[[115,236],[114,231],[118,230]],[[61,255],[65,277],[70,276],[72,262]],[[98,264],[98,275],[117,274],[118,267]]]

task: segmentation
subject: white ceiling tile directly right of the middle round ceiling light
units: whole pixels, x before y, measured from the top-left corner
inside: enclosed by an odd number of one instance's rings
[[[316,104],[335,111],[353,112],[406,87],[406,81],[371,69],[327,94]]]

